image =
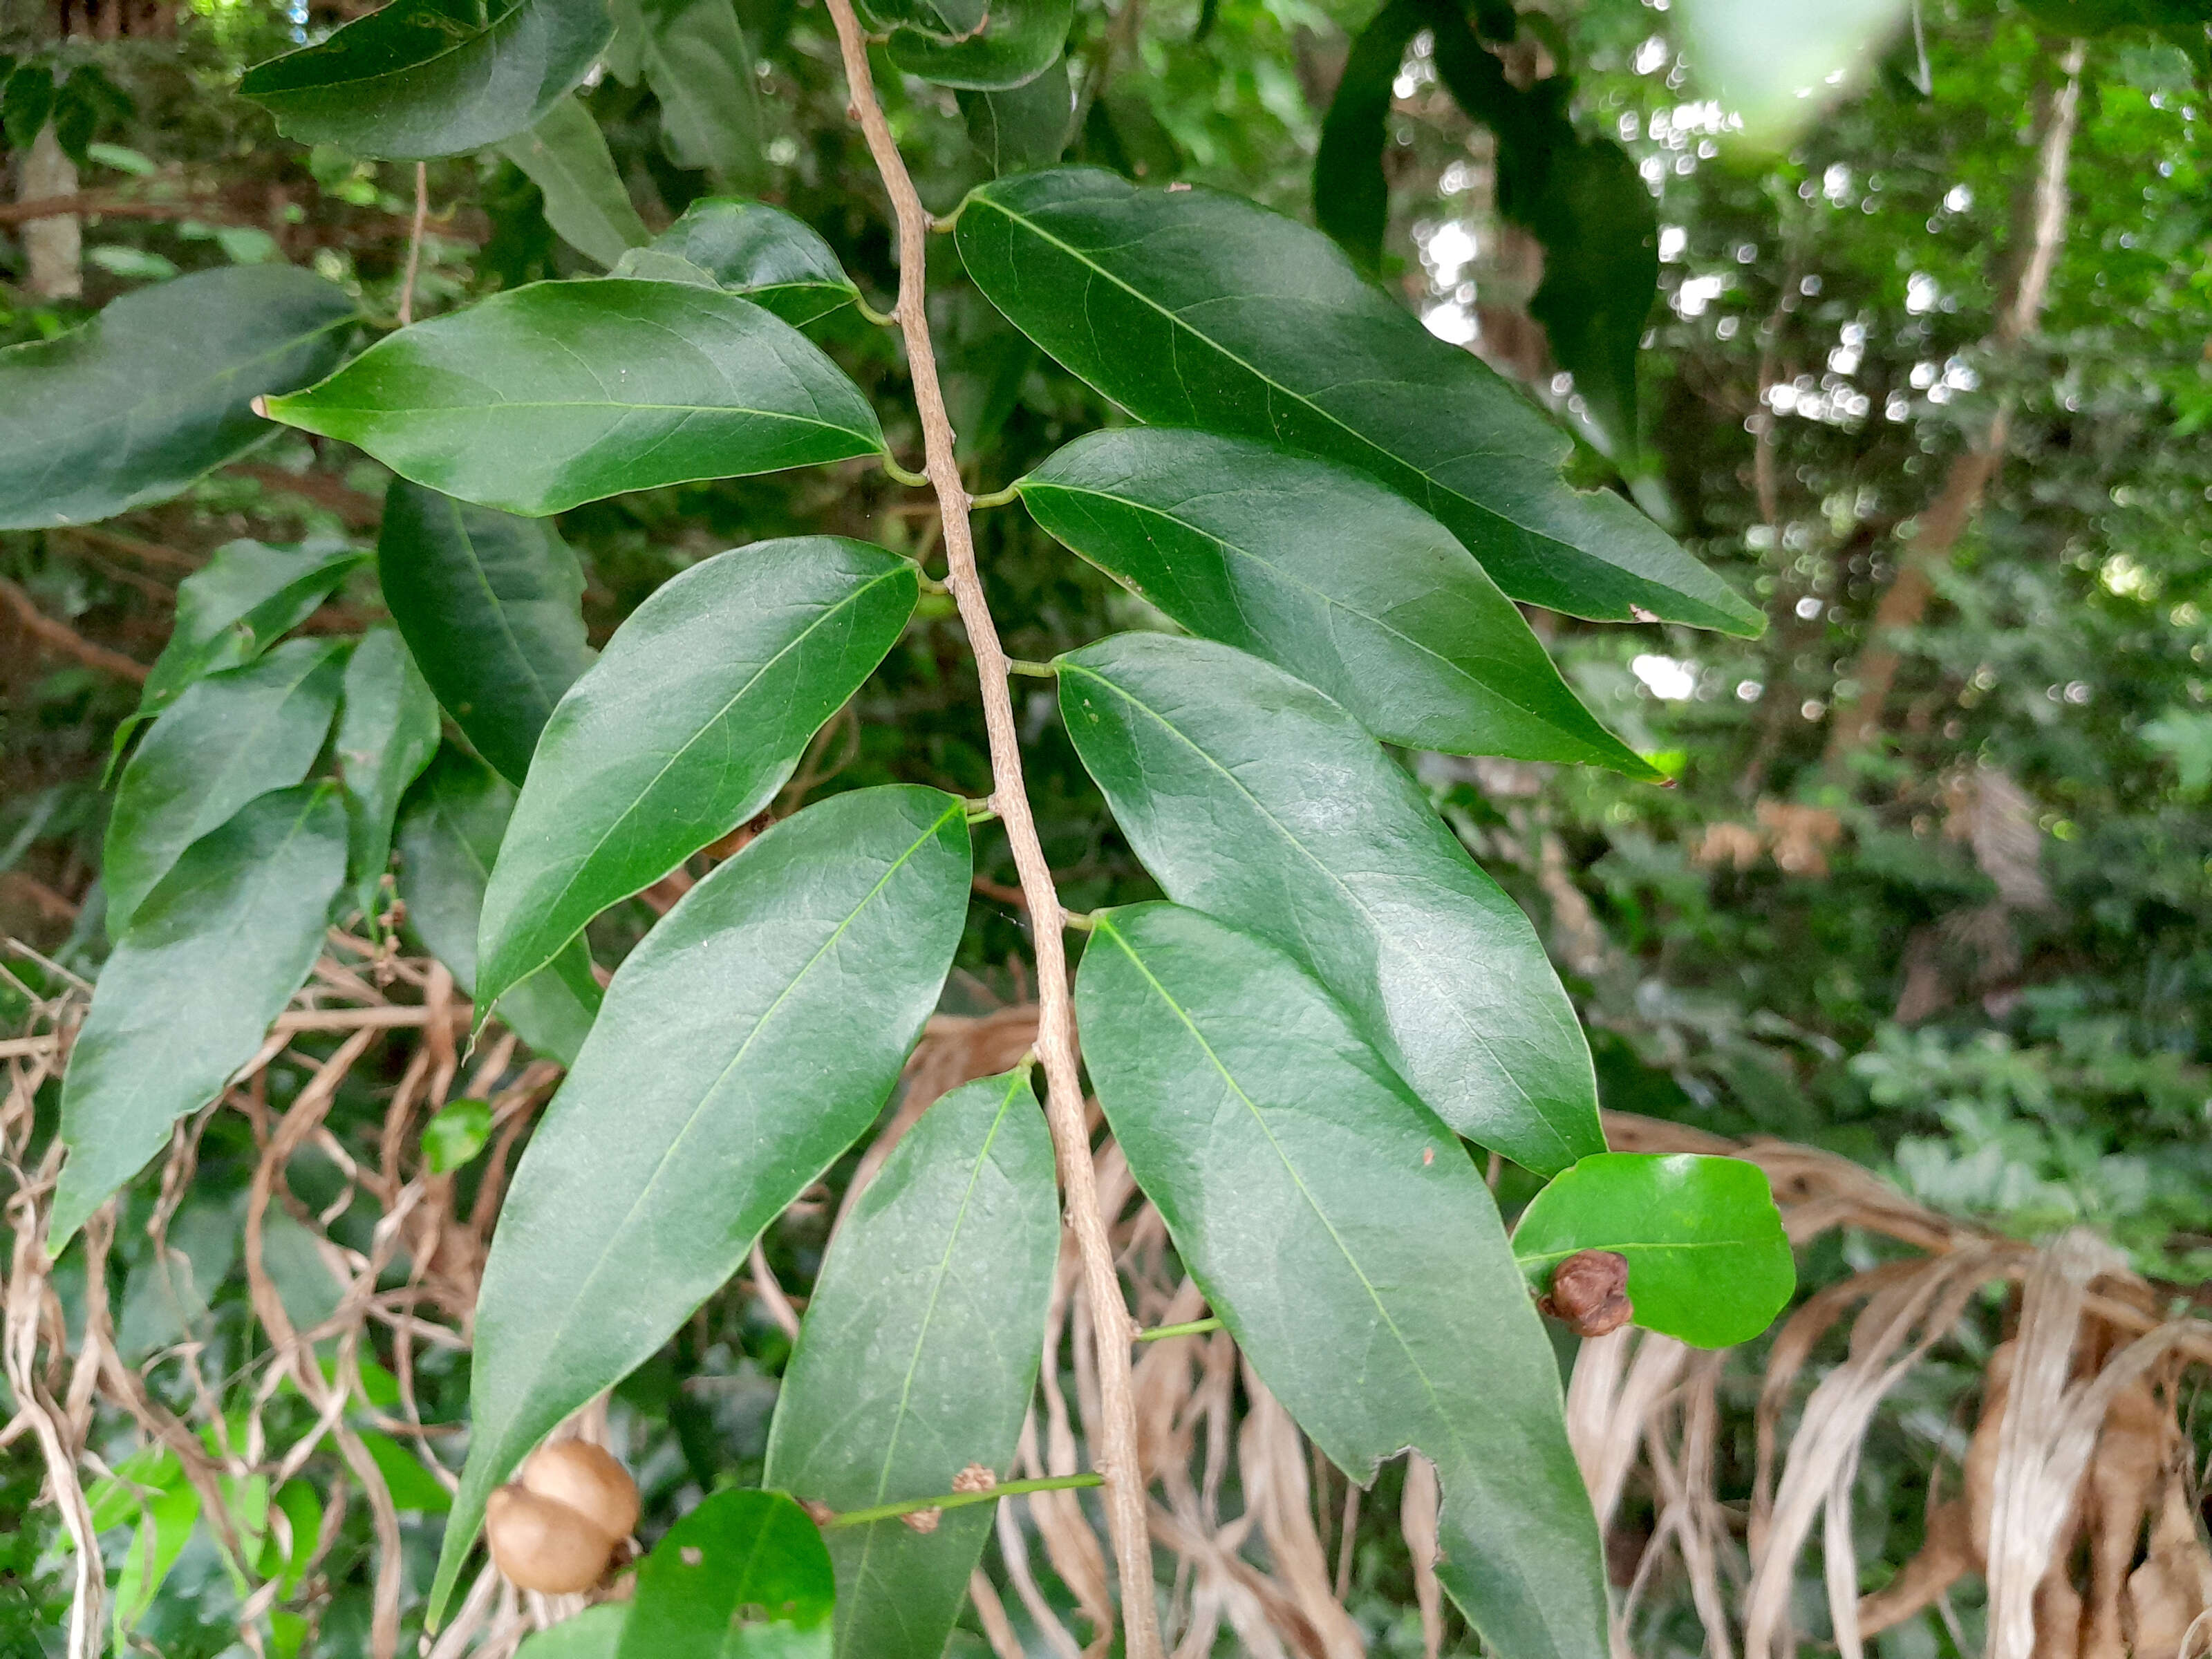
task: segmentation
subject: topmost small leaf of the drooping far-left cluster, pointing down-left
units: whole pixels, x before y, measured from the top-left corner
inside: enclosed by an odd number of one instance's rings
[[[159,714],[204,675],[259,657],[367,557],[349,546],[223,542],[177,584],[177,622],[146,675],[133,719]]]

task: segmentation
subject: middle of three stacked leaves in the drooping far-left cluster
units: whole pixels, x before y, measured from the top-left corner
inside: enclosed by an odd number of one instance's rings
[[[257,794],[307,776],[338,710],[343,655],[332,639],[292,639],[188,686],[153,723],[108,816],[100,880],[111,938],[186,847]]]

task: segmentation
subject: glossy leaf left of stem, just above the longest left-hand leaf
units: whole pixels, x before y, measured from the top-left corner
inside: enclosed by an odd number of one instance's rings
[[[484,891],[478,991],[498,998],[774,801],[918,597],[907,560],[801,535],[703,560],[637,606],[538,741]]]

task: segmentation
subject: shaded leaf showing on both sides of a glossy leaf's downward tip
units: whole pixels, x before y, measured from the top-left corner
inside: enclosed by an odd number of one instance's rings
[[[500,836],[515,810],[515,792],[498,772],[458,748],[438,750],[429,770],[400,805],[400,902],[407,933],[447,964],[453,982],[476,993],[476,929],[484,914],[484,883],[500,856]],[[575,940],[551,967],[540,969],[504,998],[500,1018],[531,1048],[575,1064],[599,1011],[599,982],[591,953]]]

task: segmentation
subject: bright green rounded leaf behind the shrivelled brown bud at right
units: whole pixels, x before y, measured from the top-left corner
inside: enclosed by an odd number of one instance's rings
[[[1637,1325],[1694,1347],[1752,1340],[1796,1290],[1765,1170],[1739,1157],[1582,1159],[1537,1192],[1513,1228],[1513,1256],[1537,1292],[1577,1250],[1626,1256]]]

